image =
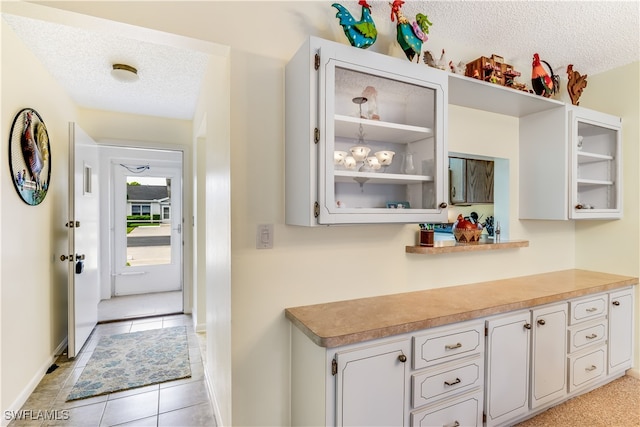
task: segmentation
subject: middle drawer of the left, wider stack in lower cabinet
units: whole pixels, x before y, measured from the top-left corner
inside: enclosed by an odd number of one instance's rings
[[[480,386],[482,378],[483,362],[480,357],[414,374],[411,376],[413,407]]]

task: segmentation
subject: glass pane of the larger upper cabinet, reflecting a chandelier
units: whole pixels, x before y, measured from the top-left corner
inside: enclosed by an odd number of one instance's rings
[[[334,91],[328,202],[335,209],[435,209],[436,91],[339,66]]]

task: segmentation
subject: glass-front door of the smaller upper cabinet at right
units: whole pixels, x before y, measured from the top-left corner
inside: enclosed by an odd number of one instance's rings
[[[571,205],[574,219],[621,218],[620,118],[570,109]]]

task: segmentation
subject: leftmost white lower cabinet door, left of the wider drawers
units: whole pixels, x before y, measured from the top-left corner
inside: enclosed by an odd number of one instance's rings
[[[337,426],[406,426],[409,339],[338,352]]]

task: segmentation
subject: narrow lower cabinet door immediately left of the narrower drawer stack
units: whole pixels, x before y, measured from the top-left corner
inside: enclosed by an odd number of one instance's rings
[[[567,393],[567,304],[532,310],[531,409]]]

